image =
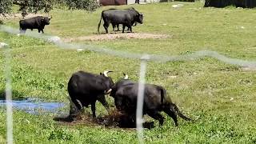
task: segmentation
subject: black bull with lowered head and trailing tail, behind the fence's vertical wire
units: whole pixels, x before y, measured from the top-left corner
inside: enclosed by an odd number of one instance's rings
[[[127,78],[126,76],[114,84],[110,96],[114,98],[117,109],[130,115],[132,121],[135,122],[138,82],[132,82]],[[161,111],[174,119],[175,126],[178,126],[177,114],[185,120],[191,120],[180,112],[178,106],[171,102],[170,98],[166,98],[166,90],[162,86],[145,84],[143,115],[148,114],[151,118],[158,120],[162,126],[164,117],[160,114]]]

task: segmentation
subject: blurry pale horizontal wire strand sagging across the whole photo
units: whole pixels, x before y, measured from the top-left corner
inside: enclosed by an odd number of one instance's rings
[[[10,26],[0,26],[0,31],[6,32],[9,34],[19,33],[19,30],[14,29]],[[62,42],[61,38],[59,38],[58,36],[53,36],[49,34],[48,35],[38,34],[35,32],[27,31],[26,34],[22,34],[22,35],[28,36],[30,38],[40,38],[48,42],[53,42],[56,46],[62,49],[90,50],[90,51],[98,52],[101,54],[110,54],[110,55],[118,56],[122,58],[134,58],[134,59],[140,59],[144,55],[144,54],[135,54],[135,53],[129,53],[125,51],[119,51],[119,50],[111,50],[109,48],[102,47],[102,46],[92,46],[92,45]],[[246,61],[246,60],[241,60],[237,58],[228,58],[225,55],[218,54],[218,52],[213,50],[199,50],[199,51],[195,51],[192,54],[183,54],[183,55],[174,55],[174,56],[155,55],[155,54],[147,54],[147,55],[149,57],[148,61],[154,61],[154,62],[186,61],[186,60],[195,60],[195,59],[204,58],[204,57],[211,57],[231,65],[244,66],[244,67],[256,67],[256,61]]]

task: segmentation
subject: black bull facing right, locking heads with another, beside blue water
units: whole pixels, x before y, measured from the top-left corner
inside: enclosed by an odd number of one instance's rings
[[[93,117],[95,118],[95,102],[97,100],[102,103],[106,110],[109,110],[105,94],[110,94],[111,87],[114,85],[112,78],[107,76],[109,72],[112,71],[105,71],[103,74],[90,74],[78,71],[72,74],[67,90],[71,101],[79,111],[82,110],[83,106],[88,107],[90,105]]]

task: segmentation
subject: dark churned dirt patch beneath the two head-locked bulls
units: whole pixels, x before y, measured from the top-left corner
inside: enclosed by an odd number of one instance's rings
[[[79,114],[78,116],[56,117],[54,121],[66,126],[100,125],[108,128],[126,128],[128,130],[135,130],[136,128],[136,123],[128,115],[122,114],[117,110],[112,110],[109,115],[98,116],[97,118],[92,118],[89,114]],[[144,122],[143,127],[148,129],[154,128],[154,122]]]

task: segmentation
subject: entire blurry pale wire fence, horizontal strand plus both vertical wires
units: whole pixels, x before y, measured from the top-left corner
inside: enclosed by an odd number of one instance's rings
[[[19,30],[14,29],[10,26],[0,26],[0,31],[6,32],[9,34],[17,34],[19,36]],[[58,46],[62,49],[74,49],[74,50],[90,50],[94,52],[98,52],[101,54],[110,54],[117,57],[122,58],[134,58],[141,60],[141,66],[140,66],[140,75],[139,75],[139,85],[138,85],[138,99],[137,99],[137,110],[136,110],[136,127],[138,132],[138,142],[143,143],[143,129],[142,129],[142,108],[143,108],[143,99],[144,99],[144,83],[145,83],[145,74],[146,74],[146,62],[152,61],[152,62],[174,62],[174,61],[186,61],[186,60],[195,60],[198,58],[204,58],[204,57],[211,57],[216,58],[219,61],[236,65],[236,66],[243,66],[243,67],[249,67],[249,68],[255,68],[256,67],[256,61],[246,61],[241,60],[237,58],[228,58],[225,55],[218,54],[216,51],[212,50],[200,50],[196,51],[193,54],[184,54],[184,55],[174,55],[174,56],[166,56],[166,55],[155,55],[155,54],[135,54],[135,53],[129,53],[125,51],[119,51],[119,50],[111,50],[110,48],[102,47],[102,46],[92,46],[92,45],[83,45],[78,43],[67,43],[62,42],[61,38],[58,36],[53,35],[46,35],[46,34],[38,34],[34,32],[26,32],[26,34],[22,34],[24,36],[30,37],[30,38],[39,38],[46,40],[47,42],[52,42],[54,45]],[[9,102],[11,102],[11,78],[10,78],[10,50],[8,46],[6,47],[6,98],[9,98]],[[8,104],[7,101],[7,142],[12,143],[13,142],[13,136],[12,136],[12,106]]]

